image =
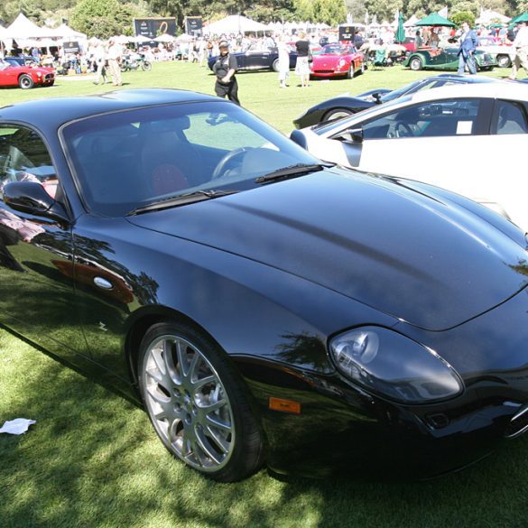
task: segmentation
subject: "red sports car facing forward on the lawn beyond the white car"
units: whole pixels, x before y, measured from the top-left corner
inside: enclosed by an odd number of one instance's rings
[[[354,46],[343,44],[327,44],[317,55],[313,55],[311,63],[312,77],[347,76],[352,79],[357,73],[366,69],[365,56]]]

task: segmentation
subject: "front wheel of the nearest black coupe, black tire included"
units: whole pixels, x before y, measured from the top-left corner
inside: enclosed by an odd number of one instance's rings
[[[190,468],[221,482],[259,468],[263,443],[224,353],[188,325],[166,321],[145,334],[139,385],[154,430]]]

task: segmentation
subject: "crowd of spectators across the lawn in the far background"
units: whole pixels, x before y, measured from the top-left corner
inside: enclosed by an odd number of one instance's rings
[[[519,68],[528,67],[528,28],[526,23],[517,24],[516,27],[496,27],[471,29],[468,23],[462,23],[459,29],[449,27],[424,27],[407,28],[407,37],[412,37],[416,48],[428,47],[431,50],[452,46],[459,43],[459,72],[466,69],[470,73],[476,73],[475,51],[479,37],[493,37],[498,43],[512,44],[514,55],[514,68],[511,78],[515,79]],[[390,26],[370,27],[365,30],[357,30],[354,35],[353,44],[358,50],[368,50],[368,46],[390,46],[394,44],[394,28]],[[287,87],[287,79],[290,75],[289,53],[294,49],[298,60],[295,72],[301,80],[301,87],[308,86],[310,79],[310,50],[314,47],[328,43],[338,42],[338,32],[323,30],[320,32],[289,32],[281,34],[264,34],[256,37],[244,33],[222,34],[213,37],[202,37],[198,39],[181,40],[180,42],[156,43],[155,45],[137,46],[124,44],[116,39],[108,42],[88,42],[88,46],[82,51],[65,52],[61,47],[51,49],[32,48],[29,50],[14,50],[12,53],[19,55],[31,55],[33,60],[39,61],[44,66],[54,66],[58,73],[87,73],[96,74],[96,84],[112,82],[115,86],[122,84],[120,64],[124,57],[136,60],[139,57],[150,62],[158,60],[189,60],[197,62],[205,67],[211,57],[232,56],[231,54],[245,51],[277,48],[279,54],[279,86]],[[225,64],[224,64],[225,66]],[[236,83],[234,73],[227,74],[230,69],[219,65],[215,66],[222,71],[223,78],[228,77],[229,82]],[[236,66],[235,66],[236,69]],[[221,89],[222,80],[218,81],[217,92],[224,93]],[[239,103],[236,89],[229,90],[233,100]]]

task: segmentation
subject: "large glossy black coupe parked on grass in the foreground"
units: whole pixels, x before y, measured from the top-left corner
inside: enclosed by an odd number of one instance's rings
[[[218,97],[0,108],[0,322],[141,399],[218,480],[438,474],[525,431],[526,245]]]

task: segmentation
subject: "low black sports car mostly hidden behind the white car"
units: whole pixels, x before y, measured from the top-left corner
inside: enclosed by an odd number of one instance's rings
[[[307,126],[317,125],[323,121],[332,121],[341,117],[351,116],[366,108],[374,107],[392,101],[397,97],[402,97],[407,94],[413,94],[422,89],[439,88],[440,86],[447,86],[449,84],[467,84],[475,82],[491,82],[493,78],[477,77],[469,75],[458,75],[451,73],[444,73],[434,77],[427,77],[424,79],[415,80],[411,84],[407,84],[402,88],[389,90],[387,88],[380,88],[377,90],[370,90],[356,97],[338,96],[322,101],[321,103],[308,108],[301,116],[293,121],[296,128],[306,128]]]

